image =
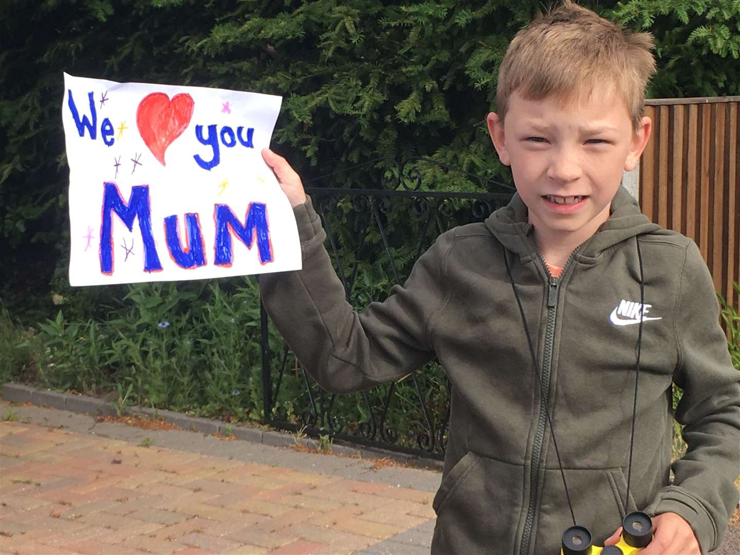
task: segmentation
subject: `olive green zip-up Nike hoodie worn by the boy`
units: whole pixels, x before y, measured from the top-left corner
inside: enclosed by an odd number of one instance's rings
[[[619,189],[608,221],[554,279],[515,195],[485,223],[440,235],[404,286],[357,314],[344,300],[311,201],[295,216],[303,269],[263,275],[260,286],[277,329],[317,382],[332,392],[356,391],[397,380],[435,355],[451,381],[433,553],[556,554],[572,525],[504,256],[534,342],[577,523],[602,545],[625,511],[670,511],[689,522],[702,551],[719,545],[738,499],[740,372],[730,363],[712,281],[691,240],[650,223]],[[675,415],[672,381],[684,389]],[[689,448],[671,467],[674,416]]]

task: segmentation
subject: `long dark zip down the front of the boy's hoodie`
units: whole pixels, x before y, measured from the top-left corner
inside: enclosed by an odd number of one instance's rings
[[[568,260],[565,261],[565,266],[562,267],[561,276],[565,275],[565,270],[568,269],[573,258],[576,256],[576,252],[581,248],[577,246],[576,249],[571,252]],[[548,276],[548,323],[545,329],[545,353],[542,355],[542,374],[540,375],[540,381],[542,382],[542,391],[540,392],[540,403],[539,403],[539,420],[537,421],[537,433],[534,437],[534,445],[532,446],[532,465],[530,471],[530,490],[529,490],[529,507],[527,509],[527,518],[524,522],[524,531],[522,533],[522,546],[519,549],[519,554],[527,555],[529,551],[529,544],[532,536],[532,526],[534,525],[534,512],[536,511],[538,501],[537,498],[537,477],[539,475],[539,466],[542,459],[542,442],[545,439],[545,425],[548,422],[548,391],[550,391],[550,374],[552,366],[552,352],[553,343],[555,340],[555,317],[557,314],[557,300],[560,286],[560,278],[552,277],[548,265],[545,262],[545,257],[542,256],[542,252],[537,249],[537,255],[539,260],[542,261],[542,266],[545,268],[545,273]]]

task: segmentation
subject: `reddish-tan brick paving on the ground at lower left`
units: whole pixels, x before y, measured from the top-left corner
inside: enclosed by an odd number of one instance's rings
[[[431,539],[432,497],[0,423],[1,554],[349,554],[420,525]]]

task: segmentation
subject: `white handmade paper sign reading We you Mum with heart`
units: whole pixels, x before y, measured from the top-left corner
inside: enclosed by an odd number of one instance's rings
[[[64,74],[73,286],[300,269],[279,96]]]

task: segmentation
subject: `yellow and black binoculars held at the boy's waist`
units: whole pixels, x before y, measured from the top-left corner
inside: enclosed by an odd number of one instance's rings
[[[634,511],[622,520],[622,536],[616,545],[605,548],[591,545],[591,532],[583,526],[571,526],[562,533],[560,555],[633,555],[653,539],[653,521],[647,514]]]

